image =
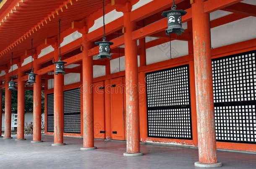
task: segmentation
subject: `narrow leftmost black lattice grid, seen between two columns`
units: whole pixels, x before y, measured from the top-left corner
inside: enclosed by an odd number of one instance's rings
[[[53,93],[47,94],[47,132],[54,131],[54,95]]]

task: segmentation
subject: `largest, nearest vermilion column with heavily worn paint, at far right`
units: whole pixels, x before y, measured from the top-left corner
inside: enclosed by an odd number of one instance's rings
[[[216,155],[209,14],[204,13],[204,0],[192,4],[192,25],[199,148],[195,166],[216,167],[221,163]]]

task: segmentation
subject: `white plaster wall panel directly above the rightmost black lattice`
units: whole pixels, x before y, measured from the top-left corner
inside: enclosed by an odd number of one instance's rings
[[[256,38],[256,17],[250,16],[211,29],[212,47]]]

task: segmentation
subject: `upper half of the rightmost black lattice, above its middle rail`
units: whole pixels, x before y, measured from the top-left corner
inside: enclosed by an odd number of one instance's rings
[[[255,51],[212,60],[214,103],[256,100]]]

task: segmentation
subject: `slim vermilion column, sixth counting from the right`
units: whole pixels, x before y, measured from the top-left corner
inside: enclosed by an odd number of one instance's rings
[[[21,63],[18,63],[18,100],[17,100],[17,139],[15,140],[26,140],[24,139],[24,123],[25,123],[25,84],[22,81],[24,73],[21,71]]]

